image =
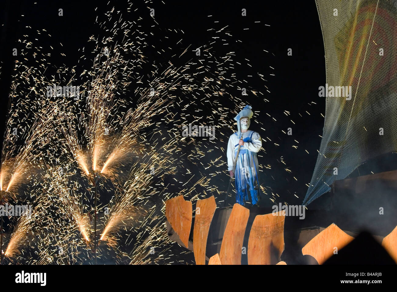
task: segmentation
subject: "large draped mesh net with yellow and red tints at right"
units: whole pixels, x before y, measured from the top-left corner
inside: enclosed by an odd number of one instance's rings
[[[316,5],[326,83],[351,86],[351,99],[340,97],[343,91],[332,97],[332,88],[324,97],[323,136],[304,205],[397,145],[397,1],[317,0]]]

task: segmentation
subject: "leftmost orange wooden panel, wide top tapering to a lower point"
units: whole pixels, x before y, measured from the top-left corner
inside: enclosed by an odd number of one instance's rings
[[[187,248],[192,227],[192,202],[185,201],[183,195],[167,200],[166,217],[172,229],[179,235],[181,242]]]

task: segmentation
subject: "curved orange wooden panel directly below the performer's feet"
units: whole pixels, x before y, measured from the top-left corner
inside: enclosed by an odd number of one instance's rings
[[[249,209],[237,203],[233,205],[219,254],[222,265],[241,265],[241,249],[248,217]]]

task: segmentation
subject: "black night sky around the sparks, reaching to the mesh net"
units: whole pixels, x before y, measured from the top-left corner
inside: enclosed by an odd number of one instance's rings
[[[2,125],[5,123],[7,114],[7,89],[10,87],[10,74],[13,62],[17,58],[17,56],[12,56],[12,48],[21,46],[17,40],[26,32],[25,26],[29,25],[32,29],[45,28],[52,36],[48,40],[48,44],[52,46],[62,42],[62,51],[67,54],[63,60],[59,60],[60,64],[75,64],[81,56],[78,49],[84,46],[91,35],[100,31],[94,25],[96,14],[98,14],[95,8],[98,6],[98,11],[101,11],[101,6],[96,2],[64,1],[55,4],[38,1],[37,4],[33,3],[21,1],[17,4],[13,1],[6,1],[3,5],[1,85],[4,90],[1,94],[4,106],[1,109],[2,121],[0,122]],[[249,83],[252,89],[266,93],[264,97],[269,101],[265,102],[262,97],[254,95],[249,100],[253,110],[261,112],[260,116],[254,114],[250,129],[258,131],[262,137],[271,139],[263,143],[263,149],[260,152],[263,157],[259,158],[259,163],[272,166],[271,171],[264,170],[261,184],[278,193],[281,201],[291,204],[301,203],[307,190],[305,184],[310,182],[316,162],[316,149],[320,146],[319,135],[322,135],[324,125],[324,118],[320,113],[325,112],[325,100],[318,97],[318,86],[325,83],[325,62],[315,3],[307,1],[285,5],[283,2],[242,4],[233,1],[224,3],[200,1],[192,4],[173,1],[172,4],[164,5],[158,1],[141,6],[156,9],[155,19],[159,27],[183,30],[185,39],[181,47],[192,44],[191,47],[195,48],[208,40],[210,37],[208,29],[229,25],[228,31],[233,35],[233,39],[241,40],[241,42],[229,44],[228,49],[236,52],[238,60],[249,59],[249,64],[252,66],[251,72],[236,70],[237,77],[244,78],[247,74],[259,72],[264,74],[267,80],[262,83],[257,80]],[[59,8],[64,10],[62,17],[58,16]],[[241,16],[242,8],[247,9],[246,17]],[[214,23],[214,21],[219,21],[219,23]],[[260,23],[254,23],[255,21],[260,21]],[[270,26],[265,26],[265,24]],[[249,29],[244,30],[245,28]],[[156,41],[155,38],[154,41]],[[40,42],[43,47],[48,45],[45,39]],[[154,46],[157,45],[154,44]],[[292,56],[287,56],[288,48],[292,48]],[[270,94],[266,92],[264,85],[268,87]],[[236,95],[239,94],[236,93]],[[283,113],[284,110],[289,111],[291,115],[287,117]],[[262,122],[266,132],[260,130],[260,127],[255,128],[257,124],[254,120]],[[295,125],[291,123],[291,120],[295,122]],[[231,120],[230,123],[232,122]],[[287,136],[282,132],[282,130],[287,131],[289,127],[293,129],[292,136]],[[227,136],[229,134],[225,133]],[[298,149],[292,148],[292,145],[298,145],[294,143],[294,140],[299,142]],[[280,162],[281,156],[286,165]],[[286,173],[283,166],[288,166],[293,175]],[[297,181],[293,179],[293,176],[297,178]],[[225,178],[222,179],[226,182]],[[293,193],[296,193],[299,199],[293,196]]]

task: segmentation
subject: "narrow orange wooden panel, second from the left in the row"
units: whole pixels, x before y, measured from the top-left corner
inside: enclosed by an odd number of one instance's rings
[[[193,252],[196,265],[205,265],[205,248],[208,231],[216,209],[215,197],[198,200],[196,204],[195,226],[193,229]]]

